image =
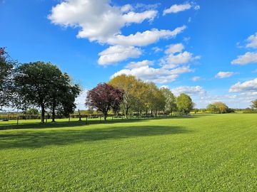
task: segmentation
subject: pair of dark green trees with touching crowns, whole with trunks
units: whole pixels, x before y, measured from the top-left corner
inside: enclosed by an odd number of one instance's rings
[[[74,101],[79,95],[79,85],[72,85],[69,75],[61,73],[56,65],[44,62],[25,63],[16,69],[14,85],[19,102],[17,107],[41,107],[41,122],[44,123],[46,109],[52,112],[53,121],[56,109],[67,115],[75,108]]]

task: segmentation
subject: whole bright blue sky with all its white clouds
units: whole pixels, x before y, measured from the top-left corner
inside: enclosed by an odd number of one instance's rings
[[[51,62],[86,90],[135,75],[196,107],[257,98],[257,1],[0,0],[0,47]]]

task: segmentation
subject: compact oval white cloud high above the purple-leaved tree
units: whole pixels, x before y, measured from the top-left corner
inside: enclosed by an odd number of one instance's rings
[[[141,49],[133,46],[111,46],[99,53],[99,65],[111,65],[127,58],[138,58],[142,54]]]

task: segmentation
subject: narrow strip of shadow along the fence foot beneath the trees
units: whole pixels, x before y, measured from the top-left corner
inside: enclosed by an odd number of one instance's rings
[[[146,118],[146,119],[108,119],[106,122],[102,119],[99,120],[92,120],[89,119],[88,122],[83,119],[81,122],[79,121],[71,121],[71,122],[48,122],[45,124],[41,124],[38,122],[22,122],[19,125],[14,124],[0,124],[0,131],[7,130],[7,129],[44,129],[44,128],[60,128],[60,127],[81,127],[86,126],[88,124],[114,124],[114,123],[129,123],[129,122],[146,122],[151,119],[191,119],[191,118],[198,118],[204,117],[206,115],[192,115],[192,116],[181,116],[181,117],[157,117],[157,118]]]

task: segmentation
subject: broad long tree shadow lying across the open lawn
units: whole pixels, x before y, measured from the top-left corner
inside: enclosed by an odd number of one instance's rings
[[[129,137],[150,137],[163,134],[190,132],[183,127],[173,126],[131,126],[106,127],[105,129],[63,129],[14,132],[0,134],[0,149],[37,148],[49,145],[66,145],[80,142],[94,142],[104,139],[125,139]]]

